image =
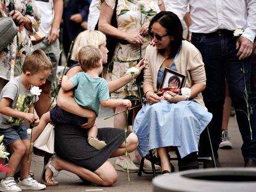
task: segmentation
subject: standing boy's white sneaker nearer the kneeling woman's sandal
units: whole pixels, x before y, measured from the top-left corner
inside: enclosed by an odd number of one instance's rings
[[[28,175],[26,178],[23,178],[23,180],[20,180],[19,178],[18,185],[22,190],[43,190],[46,188],[46,185],[38,183],[36,180],[30,177],[30,175]]]

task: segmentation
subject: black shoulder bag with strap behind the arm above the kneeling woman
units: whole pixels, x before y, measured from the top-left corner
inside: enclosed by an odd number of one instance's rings
[[[116,7],[117,7],[118,0],[116,0],[116,4],[114,6],[114,13],[111,18],[111,26],[117,28],[117,20],[116,20]],[[99,20],[96,23],[95,30],[98,30],[98,24]],[[118,40],[117,38],[114,38],[113,36],[106,35],[106,48],[108,49],[108,64],[112,61],[113,55],[114,55],[114,49],[116,49],[117,42],[120,42],[122,44],[128,44],[125,40]]]

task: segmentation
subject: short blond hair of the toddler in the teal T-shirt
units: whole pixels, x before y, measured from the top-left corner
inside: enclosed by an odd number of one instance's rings
[[[78,52],[78,62],[85,72],[88,69],[101,67],[100,59],[102,59],[101,51],[93,45],[83,46]]]

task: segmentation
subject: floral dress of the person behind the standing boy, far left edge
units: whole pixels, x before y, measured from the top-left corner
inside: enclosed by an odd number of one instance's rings
[[[34,0],[16,0],[14,9],[19,10],[22,15],[28,17],[32,22],[33,32],[38,31],[40,15]],[[27,7],[32,5],[32,11],[28,12]],[[9,0],[1,0],[0,17],[7,17],[9,14]],[[14,40],[2,51],[0,51],[0,78],[11,80],[22,73],[22,64],[29,52],[32,51],[32,43],[27,29],[19,25],[19,31]],[[32,33],[32,32],[31,32]]]

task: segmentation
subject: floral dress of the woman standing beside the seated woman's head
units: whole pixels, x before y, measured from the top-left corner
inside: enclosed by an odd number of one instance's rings
[[[101,0],[101,3],[103,1]],[[116,0],[105,0],[111,9],[114,9]],[[163,3],[163,0],[118,0],[116,7],[116,17],[118,29],[122,31],[138,32],[144,23],[150,22],[150,20],[160,12],[159,5]],[[143,58],[145,49],[150,43],[150,36],[146,35],[143,38],[143,45],[141,51],[141,57]],[[127,69],[137,64],[140,58],[140,46],[135,44],[121,44],[117,43],[113,56],[113,71],[109,75],[108,80],[116,80],[126,75]],[[122,98],[128,94],[130,88],[137,90],[136,86],[131,86],[131,83],[120,88],[116,91],[115,95],[118,98]],[[121,94],[120,94],[121,93]]]

